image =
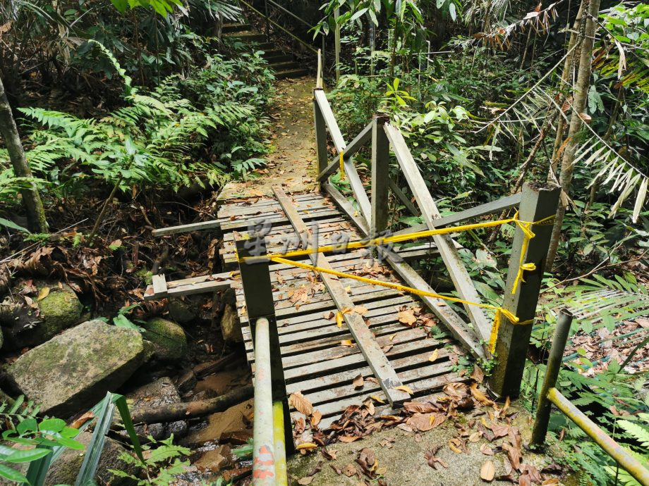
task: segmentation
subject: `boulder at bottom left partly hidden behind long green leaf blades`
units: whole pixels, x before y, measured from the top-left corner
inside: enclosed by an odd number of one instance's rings
[[[92,434],[90,432],[81,432],[75,437],[75,440],[78,440],[85,446],[90,444],[91,439]],[[126,451],[116,440],[112,440],[109,437],[106,438],[104,450],[99,459],[97,473],[95,474],[95,480],[98,485],[127,486],[135,484],[135,481],[128,478],[120,478],[109,471],[109,469],[114,469],[116,471],[124,471],[132,475],[137,475],[137,468],[133,464],[126,463],[120,459],[121,454]],[[74,449],[66,449],[63,451],[63,454],[52,463],[49,471],[47,471],[44,485],[73,485],[81,468],[85,452]]]

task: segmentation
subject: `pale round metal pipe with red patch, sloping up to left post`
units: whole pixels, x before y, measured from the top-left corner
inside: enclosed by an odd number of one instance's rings
[[[253,486],[275,486],[276,484],[269,327],[267,318],[259,318],[255,323]]]

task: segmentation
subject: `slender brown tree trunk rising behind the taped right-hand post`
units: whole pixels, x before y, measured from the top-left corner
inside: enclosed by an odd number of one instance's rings
[[[583,0],[588,1],[588,0]],[[552,228],[552,239],[550,240],[550,249],[547,251],[546,268],[552,269],[554,256],[557,254],[557,247],[559,247],[559,239],[561,239],[561,227],[566,214],[566,207],[568,206],[568,194],[572,183],[572,175],[574,173],[574,160],[575,152],[578,147],[577,135],[581,131],[583,120],[581,114],[584,113],[586,108],[586,101],[588,100],[588,85],[590,83],[590,62],[593,56],[593,39],[597,24],[595,20],[600,11],[600,0],[590,0],[590,8],[588,9],[589,15],[586,19],[586,30],[584,32],[583,41],[581,42],[581,56],[579,60],[579,71],[577,75],[577,82],[574,89],[574,99],[572,104],[572,114],[570,118],[570,128],[568,130],[568,138],[566,139],[564,154],[561,161],[561,175],[559,175],[559,185],[561,185],[562,196],[559,201],[559,208],[557,208],[557,216],[554,219],[554,228]]]

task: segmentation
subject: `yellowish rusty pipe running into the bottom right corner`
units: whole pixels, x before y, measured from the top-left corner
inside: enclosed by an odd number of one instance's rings
[[[633,457],[627,449],[615,442],[604,430],[598,427],[593,420],[590,420],[570,400],[564,397],[556,388],[550,388],[547,398],[552,401],[557,409],[562,411],[566,417],[586,432],[606,453],[615,459],[622,468],[633,476],[643,486],[649,486],[649,469],[645,468],[638,459]]]

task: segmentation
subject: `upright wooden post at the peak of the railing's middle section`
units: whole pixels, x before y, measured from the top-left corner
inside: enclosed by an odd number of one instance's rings
[[[372,120],[372,216],[370,228],[376,234],[387,229],[389,217],[389,162],[390,144],[383,130],[386,116],[375,116]]]

